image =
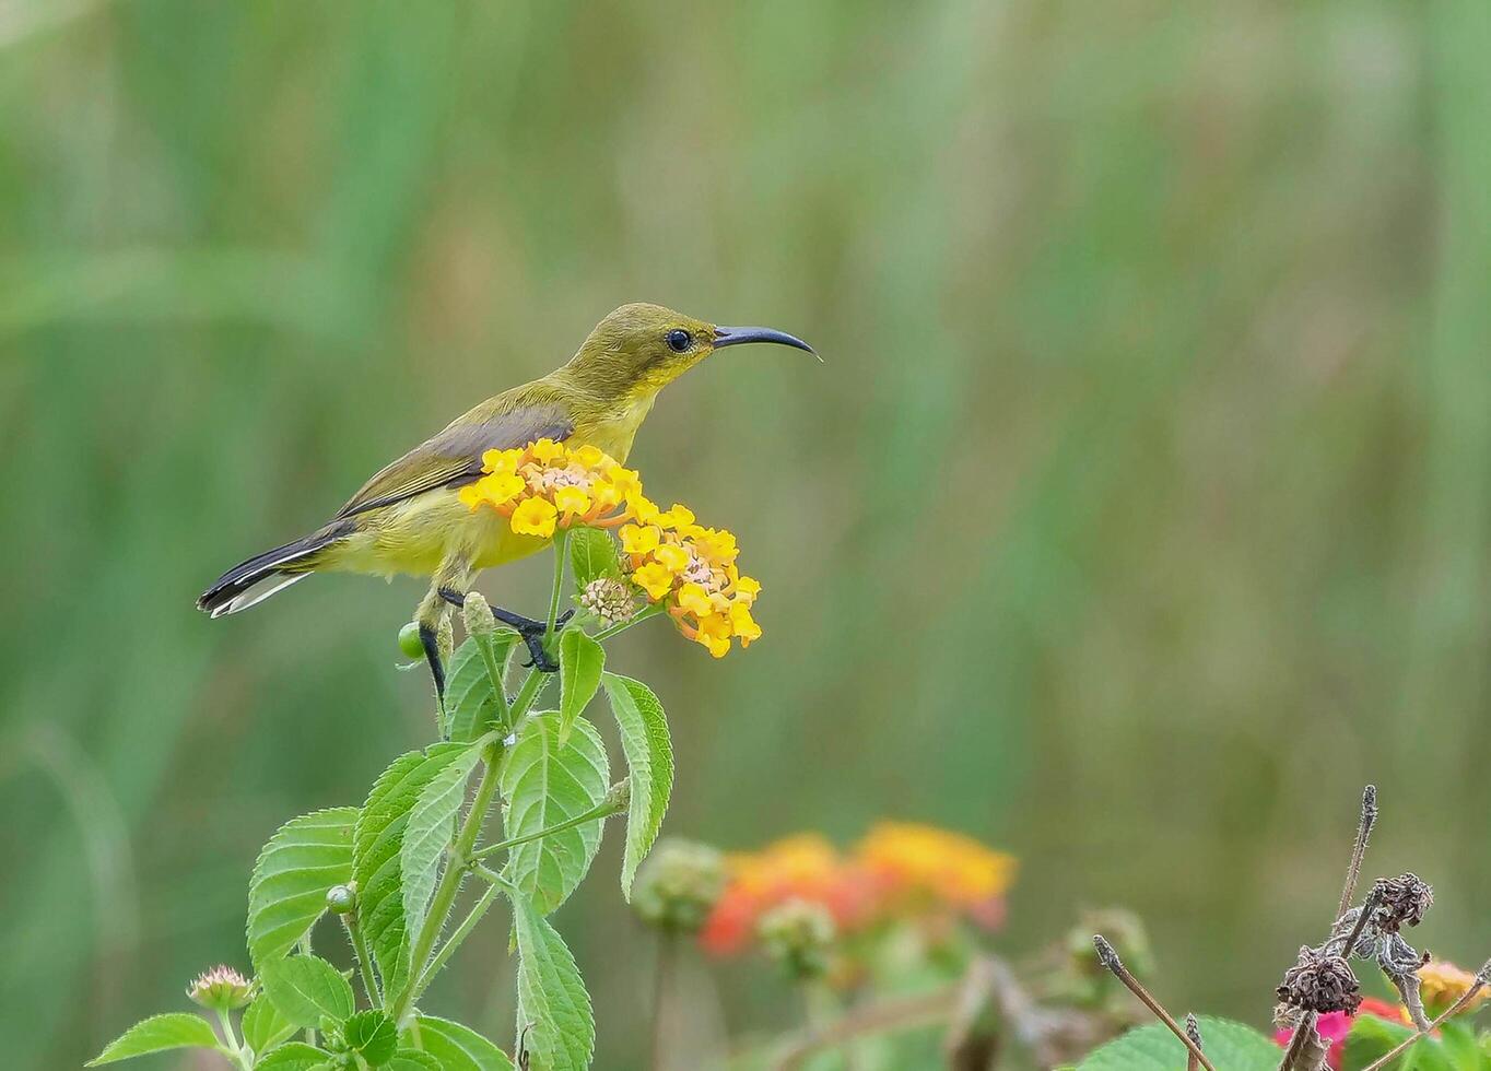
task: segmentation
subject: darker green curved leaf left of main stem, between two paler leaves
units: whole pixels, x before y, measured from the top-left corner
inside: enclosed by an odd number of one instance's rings
[[[425,786],[465,755],[470,744],[432,744],[409,752],[379,776],[352,834],[352,877],[358,883],[358,925],[383,976],[385,992],[409,977],[404,920],[403,846],[409,813]]]

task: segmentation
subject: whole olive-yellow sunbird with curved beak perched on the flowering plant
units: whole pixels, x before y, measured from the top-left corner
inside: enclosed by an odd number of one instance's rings
[[[714,351],[747,342],[816,352],[768,327],[716,327],[658,304],[623,304],[595,325],[564,367],[458,416],[379,470],[321,528],[230,568],[197,609],[213,618],[237,613],[312,573],[428,576],[429,592],[414,621],[443,701],[446,674],[435,637],[444,616],[465,604],[480,570],[549,543],[517,536],[505,518],[461,501],[459,489],[482,477],[482,455],[552,439],[595,446],[625,462],[662,388]],[[558,668],[543,647],[547,622],[501,607],[492,613],[523,637],[531,664]]]

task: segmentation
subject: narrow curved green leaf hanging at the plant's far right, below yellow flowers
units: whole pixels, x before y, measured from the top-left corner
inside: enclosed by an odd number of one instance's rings
[[[604,674],[601,683],[622,731],[622,752],[632,777],[626,853],[622,858],[622,895],[631,902],[637,867],[658,840],[672,795],[672,743],[662,704],[647,685],[614,673]]]

